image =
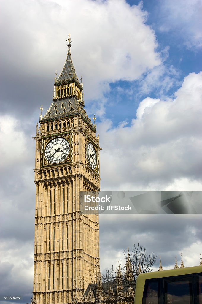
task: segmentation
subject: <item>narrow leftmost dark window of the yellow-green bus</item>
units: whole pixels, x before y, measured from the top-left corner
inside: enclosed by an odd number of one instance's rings
[[[144,292],[143,304],[159,303],[159,282],[157,280],[147,280]]]

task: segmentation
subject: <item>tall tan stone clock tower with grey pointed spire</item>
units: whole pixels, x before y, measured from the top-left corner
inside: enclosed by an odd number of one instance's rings
[[[36,130],[36,214],[33,302],[82,302],[99,269],[98,215],[80,212],[80,191],[99,191],[99,136],[84,110],[67,40],[53,102]]]

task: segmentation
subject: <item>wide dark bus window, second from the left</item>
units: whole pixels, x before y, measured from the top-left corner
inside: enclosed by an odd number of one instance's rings
[[[164,280],[165,304],[192,304],[192,278]]]

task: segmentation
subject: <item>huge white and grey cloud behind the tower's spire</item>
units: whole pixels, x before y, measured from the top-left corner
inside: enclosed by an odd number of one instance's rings
[[[146,18],[141,3],[130,6],[124,0],[4,2],[3,108],[30,115],[36,100],[49,106],[55,70],[60,73],[66,58],[68,33],[88,100],[100,100],[111,82],[138,79],[161,64],[156,36]],[[10,82],[13,87],[8,95]],[[18,102],[13,103],[14,99]]]

